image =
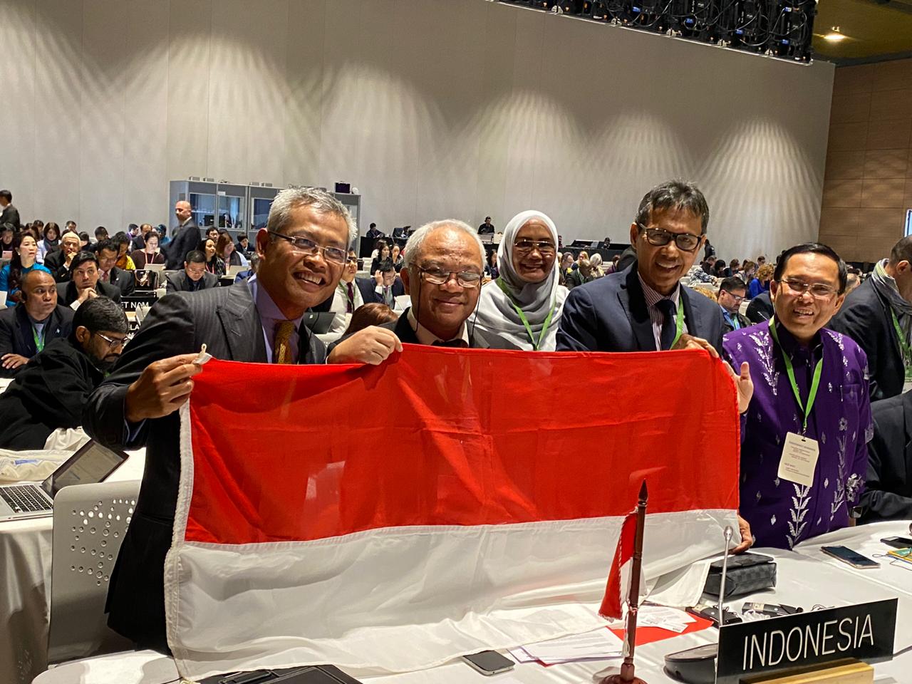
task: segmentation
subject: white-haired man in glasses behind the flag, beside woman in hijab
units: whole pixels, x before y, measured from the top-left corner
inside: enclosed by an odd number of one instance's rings
[[[435,347],[509,348],[500,337],[474,329],[470,318],[481,295],[484,246],[478,233],[447,219],[409,236],[402,283],[411,306],[394,323],[370,326],[330,347],[330,363],[382,363],[402,343]]]

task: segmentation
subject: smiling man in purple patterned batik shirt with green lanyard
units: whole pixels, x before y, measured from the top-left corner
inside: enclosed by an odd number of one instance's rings
[[[724,338],[724,357],[746,361],[754,383],[741,417],[741,515],[758,546],[792,548],[854,523],[873,432],[867,358],[824,328],[845,281],[829,247],[793,247],[770,286],[775,316]]]

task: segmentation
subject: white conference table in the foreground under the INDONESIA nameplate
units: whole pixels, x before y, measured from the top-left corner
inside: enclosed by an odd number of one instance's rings
[[[879,543],[886,536],[909,534],[908,522],[876,523],[846,528],[799,544],[794,551],[759,549],[778,563],[779,583],[775,589],[727,602],[739,610],[747,600],[802,606],[845,606],[884,598],[898,599],[896,618],[896,655],[893,660],[877,663],[876,684],[908,684],[912,681],[912,564],[895,561],[890,564],[883,554],[887,547]],[[881,566],[875,570],[856,570],[824,555],[823,544],[845,544]],[[897,565],[898,564],[898,565]],[[649,682],[672,682],[663,669],[668,653],[714,643],[714,628],[681,634],[637,648],[637,675]],[[403,645],[420,648],[420,644]],[[348,670],[365,684],[579,684],[597,682],[602,676],[617,672],[619,659],[594,660],[543,667],[538,663],[520,663],[510,671],[484,677],[459,659],[438,668],[388,675],[371,675]],[[36,678],[36,684],[170,684],[180,681],[171,658],[153,651],[134,651],[85,658],[53,668]]]

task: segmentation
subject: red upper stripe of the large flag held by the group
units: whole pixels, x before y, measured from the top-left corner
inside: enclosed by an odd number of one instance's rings
[[[378,366],[212,360],[188,541],[314,540],[738,505],[734,386],[705,352],[406,345]]]

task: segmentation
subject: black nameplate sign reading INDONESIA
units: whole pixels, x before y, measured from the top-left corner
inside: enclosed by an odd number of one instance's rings
[[[888,598],[722,627],[716,684],[843,658],[893,658],[897,602]]]

